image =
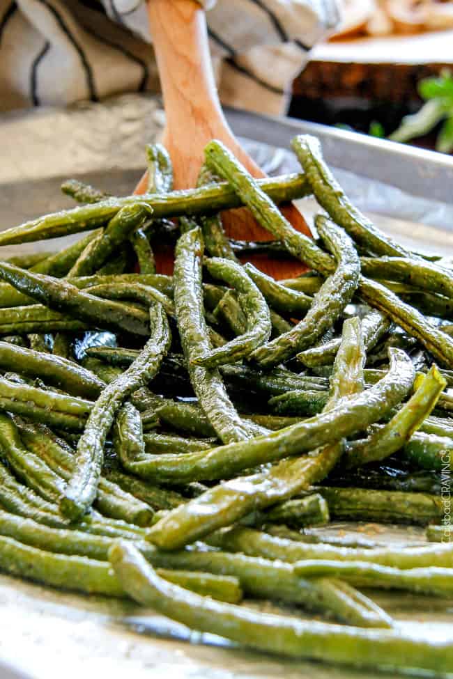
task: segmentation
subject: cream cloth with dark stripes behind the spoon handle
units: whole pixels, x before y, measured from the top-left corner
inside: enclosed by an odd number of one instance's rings
[[[282,113],[338,2],[204,0],[222,102]],[[158,88],[145,0],[0,0],[0,111]]]

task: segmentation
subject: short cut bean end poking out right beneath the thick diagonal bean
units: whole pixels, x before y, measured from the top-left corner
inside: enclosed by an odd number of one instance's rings
[[[261,517],[260,517],[261,518]],[[318,493],[295,500],[286,500],[263,514],[266,523],[282,522],[289,526],[316,526],[330,521],[329,508]]]

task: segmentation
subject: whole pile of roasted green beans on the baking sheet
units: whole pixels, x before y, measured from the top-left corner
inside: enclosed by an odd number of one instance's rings
[[[293,149],[300,174],[254,180],[211,141],[173,191],[151,145],[145,194],[68,180],[78,207],[1,232],[89,233],[0,261],[0,571],[257,650],[445,676],[453,637],[402,633],[362,590],[453,596],[453,274],[364,217],[316,139]],[[278,209],[309,194],[316,241]],[[272,240],[229,238],[241,206]],[[311,271],[276,280],[266,257]]]

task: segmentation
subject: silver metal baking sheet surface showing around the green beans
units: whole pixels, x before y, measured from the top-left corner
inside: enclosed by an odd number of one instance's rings
[[[61,179],[78,176],[114,193],[127,194],[144,165],[143,146],[162,130],[158,100],[119,97],[108,104],[83,105],[70,111],[39,111],[5,116],[0,124],[1,228],[8,228],[43,212],[68,207],[59,194]],[[251,129],[253,120],[251,118]],[[277,132],[277,127],[275,128]],[[278,136],[278,135],[277,135]],[[269,173],[296,169],[294,159],[268,145],[247,141],[252,155]],[[372,214],[376,224],[411,247],[423,247],[453,255],[447,216],[451,205],[437,205],[438,225],[432,221],[433,205],[420,198],[420,214],[413,215],[413,196],[400,189],[363,180],[353,173],[336,171],[355,201]],[[387,200],[383,201],[383,192]],[[300,201],[304,214],[318,210],[314,201]],[[384,210],[385,207],[385,210]],[[392,208],[392,209],[390,209]],[[385,214],[379,214],[379,212]],[[431,217],[430,217],[431,215]],[[445,220],[445,228],[440,226]],[[58,241],[26,244],[21,251],[53,249]],[[17,247],[4,247],[6,257]],[[332,524],[328,531],[344,531]],[[383,544],[406,539],[422,540],[420,529],[392,526],[348,526],[348,531],[367,533]],[[453,601],[411,595],[376,594],[397,624],[421,637],[453,641]],[[253,605],[253,604],[252,604]],[[260,605],[260,604],[256,604]],[[262,606],[263,604],[261,604]],[[273,609],[264,604],[266,610]],[[292,611],[294,612],[294,611]],[[300,615],[301,611],[297,611]],[[346,679],[390,678],[390,673],[338,669],[310,662],[291,662],[266,654],[231,648],[222,639],[189,632],[132,602],[116,602],[52,591],[36,584],[0,576],[0,678],[19,673],[33,679],[79,679],[133,676],[134,679]],[[303,612],[302,612],[303,615]],[[198,643],[202,641],[203,643]],[[6,664],[1,665],[1,662]],[[13,675],[11,675],[13,673]]]

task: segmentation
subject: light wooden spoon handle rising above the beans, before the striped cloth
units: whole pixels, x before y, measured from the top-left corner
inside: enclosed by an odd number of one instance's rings
[[[249,171],[263,176],[238,145],[222,113],[199,3],[151,0],[148,13],[167,116],[163,143],[174,163],[175,188],[196,184],[210,139],[221,139],[247,162]]]

